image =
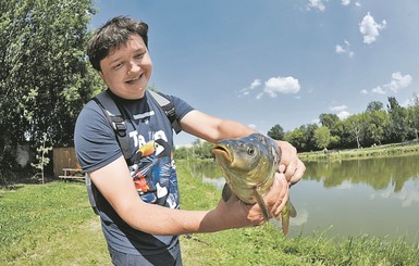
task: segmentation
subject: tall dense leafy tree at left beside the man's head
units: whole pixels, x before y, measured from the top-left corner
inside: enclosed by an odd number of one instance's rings
[[[0,4],[0,164],[17,143],[73,143],[83,104],[101,83],[85,55],[93,0]]]

